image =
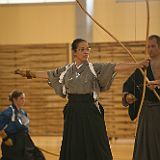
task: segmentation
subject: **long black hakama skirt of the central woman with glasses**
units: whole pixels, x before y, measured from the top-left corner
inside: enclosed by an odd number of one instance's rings
[[[102,106],[90,94],[68,98],[60,160],[112,160]]]

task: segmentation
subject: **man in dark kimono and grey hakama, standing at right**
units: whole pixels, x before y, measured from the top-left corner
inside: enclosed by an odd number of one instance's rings
[[[147,67],[147,82],[144,103],[141,111],[144,77],[140,70],[135,72],[123,84],[122,103],[128,106],[131,120],[138,118],[133,160],[160,159],[160,37],[148,38],[150,63]],[[153,92],[155,89],[157,95]],[[140,116],[137,117],[138,112]]]

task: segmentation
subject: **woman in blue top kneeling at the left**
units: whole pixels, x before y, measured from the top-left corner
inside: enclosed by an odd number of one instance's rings
[[[9,94],[11,104],[0,112],[1,160],[45,160],[29,135],[29,118],[23,110],[25,94],[19,89]]]

